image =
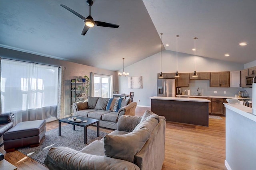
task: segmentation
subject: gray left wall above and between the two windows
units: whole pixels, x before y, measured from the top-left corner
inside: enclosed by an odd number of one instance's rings
[[[0,47],[0,57],[6,59],[16,59],[21,61],[28,61],[40,64],[49,64],[53,66],[64,66],[65,69],[65,115],[70,114],[70,82],[71,79],[78,78],[78,76],[90,76],[90,72],[98,74],[113,75],[114,90],[118,89],[117,73],[110,70],[104,70],[92,66],[86,66],[83,64],[72,63],[68,61],[62,61],[58,59],[52,59],[49,57],[43,57],[40,55],[34,55],[30,53],[24,53],[12,49],[6,49]]]

